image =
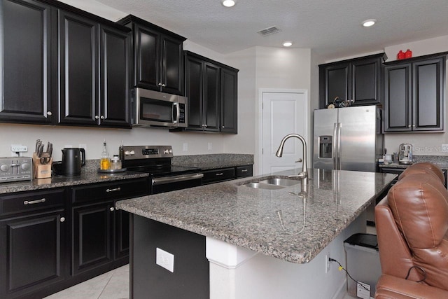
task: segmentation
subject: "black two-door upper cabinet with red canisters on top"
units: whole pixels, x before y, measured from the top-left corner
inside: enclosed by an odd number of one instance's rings
[[[447,54],[439,53],[386,63],[384,132],[444,130]]]

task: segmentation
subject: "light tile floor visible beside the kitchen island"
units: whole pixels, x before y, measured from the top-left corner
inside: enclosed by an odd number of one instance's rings
[[[129,265],[106,272],[44,299],[127,299]]]

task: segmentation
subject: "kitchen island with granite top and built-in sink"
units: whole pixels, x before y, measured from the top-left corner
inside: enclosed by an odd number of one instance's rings
[[[344,292],[345,275],[337,272],[336,265],[327,273],[325,256],[344,263],[344,239],[365,232],[365,209],[384,194],[396,175],[310,169],[307,186],[300,180],[284,188],[246,186],[297,172],[117,202],[116,207],[133,214],[134,298],[139,298],[139,288],[150,286],[151,280],[162,289],[168,282],[166,292],[158,293],[162,298],[171,298],[169,292],[174,288],[182,292],[188,279],[176,277],[176,271],[189,273],[190,280],[204,277],[200,273],[203,255],[209,263],[210,298],[332,298]],[[185,242],[189,236],[197,242]],[[151,238],[160,244],[151,244]],[[164,239],[171,241],[168,244]],[[171,253],[176,246],[181,249],[174,253],[174,272],[155,265],[155,249],[150,246]],[[193,257],[183,257],[183,252]],[[195,260],[198,266],[182,259]],[[155,270],[150,270],[153,265]],[[147,271],[142,269],[146,266]],[[180,281],[178,286],[174,280]]]

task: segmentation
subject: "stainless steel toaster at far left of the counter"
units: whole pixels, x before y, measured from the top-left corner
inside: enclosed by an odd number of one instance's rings
[[[0,182],[31,181],[33,159],[31,157],[0,157]]]

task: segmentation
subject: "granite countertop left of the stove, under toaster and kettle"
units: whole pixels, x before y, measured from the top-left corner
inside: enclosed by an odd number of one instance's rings
[[[148,174],[140,172],[118,172],[115,174],[81,172],[80,176],[52,176],[48,179],[33,179],[32,181],[0,183],[0,194],[83,185],[87,183],[104,183],[107,181],[117,181],[121,179],[137,179],[146,176],[148,176]]]

